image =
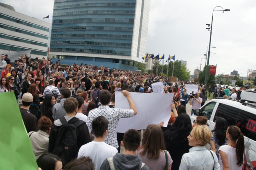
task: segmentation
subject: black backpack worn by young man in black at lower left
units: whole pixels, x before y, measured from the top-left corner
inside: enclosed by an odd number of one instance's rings
[[[66,165],[72,159],[77,157],[78,147],[76,128],[85,122],[77,121],[74,124],[69,124],[65,117],[60,117],[59,120],[61,121],[62,126],[57,135],[53,154],[58,155],[61,158],[63,165]]]

